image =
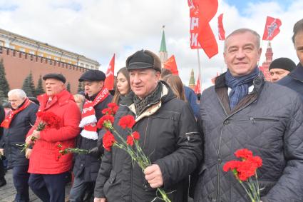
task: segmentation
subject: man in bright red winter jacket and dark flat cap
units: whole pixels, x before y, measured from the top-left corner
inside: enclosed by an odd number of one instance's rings
[[[75,147],[79,133],[81,113],[73,95],[66,91],[66,79],[62,74],[46,74],[43,76],[46,94],[38,96],[38,111],[53,112],[60,117],[60,128],[47,128],[37,131],[40,120],[27,134],[26,143],[33,146],[29,157],[29,186],[42,201],[63,202],[68,171],[72,166],[72,154],[58,158],[56,145],[61,142],[64,148]],[[36,141],[31,141],[31,137]]]

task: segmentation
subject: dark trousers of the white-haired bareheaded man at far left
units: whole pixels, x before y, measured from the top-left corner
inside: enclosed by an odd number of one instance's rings
[[[29,201],[29,173],[27,166],[14,166],[13,167],[13,180],[16,188],[16,202],[28,202]]]

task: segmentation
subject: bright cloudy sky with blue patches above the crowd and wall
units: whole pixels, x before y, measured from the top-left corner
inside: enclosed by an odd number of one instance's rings
[[[297,56],[292,45],[292,26],[302,19],[303,1],[219,0],[219,8],[210,22],[217,38],[217,16],[224,13],[226,34],[235,29],[255,29],[261,37],[266,16],[282,21],[281,32],[273,39],[274,59]],[[0,0],[0,28],[58,46],[61,49],[95,59],[106,71],[113,54],[115,72],[125,59],[140,49],[158,53],[165,25],[168,57],[175,55],[183,83],[188,85],[190,71],[197,79],[197,51],[190,49],[187,0]],[[225,71],[223,42],[217,41],[219,54],[208,59],[200,51],[202,89],[212,85],[216,72]],[[264,61],[267,41],[262,44]]]

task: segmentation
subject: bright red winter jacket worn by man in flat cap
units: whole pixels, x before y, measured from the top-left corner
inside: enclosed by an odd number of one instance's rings
[[[38,101],[40,102],[38,111],[52,111],[61,117],[61,128],[49,128],[40,132],[40,138],[35,142],[29,158],[29,173],[58,174],[70,171],[73,156],[68,153],[57,160],[56,143],[60,141],[64,147],[75,146],[76,136],[79,134],[78,125],[81,120],[79,108],[73,99],[73,95],[66,90],[53,96],[48,107],[46,107],[48,101],[46,94],[38,96]],[[38,118],[27,136],[33,133],[37,125]]]

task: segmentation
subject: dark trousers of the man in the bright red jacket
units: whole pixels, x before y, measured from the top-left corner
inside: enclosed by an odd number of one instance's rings
[[[31,173],[29,186],[43,202],[64,202],[67,175],[67,172],[54,175]]]

